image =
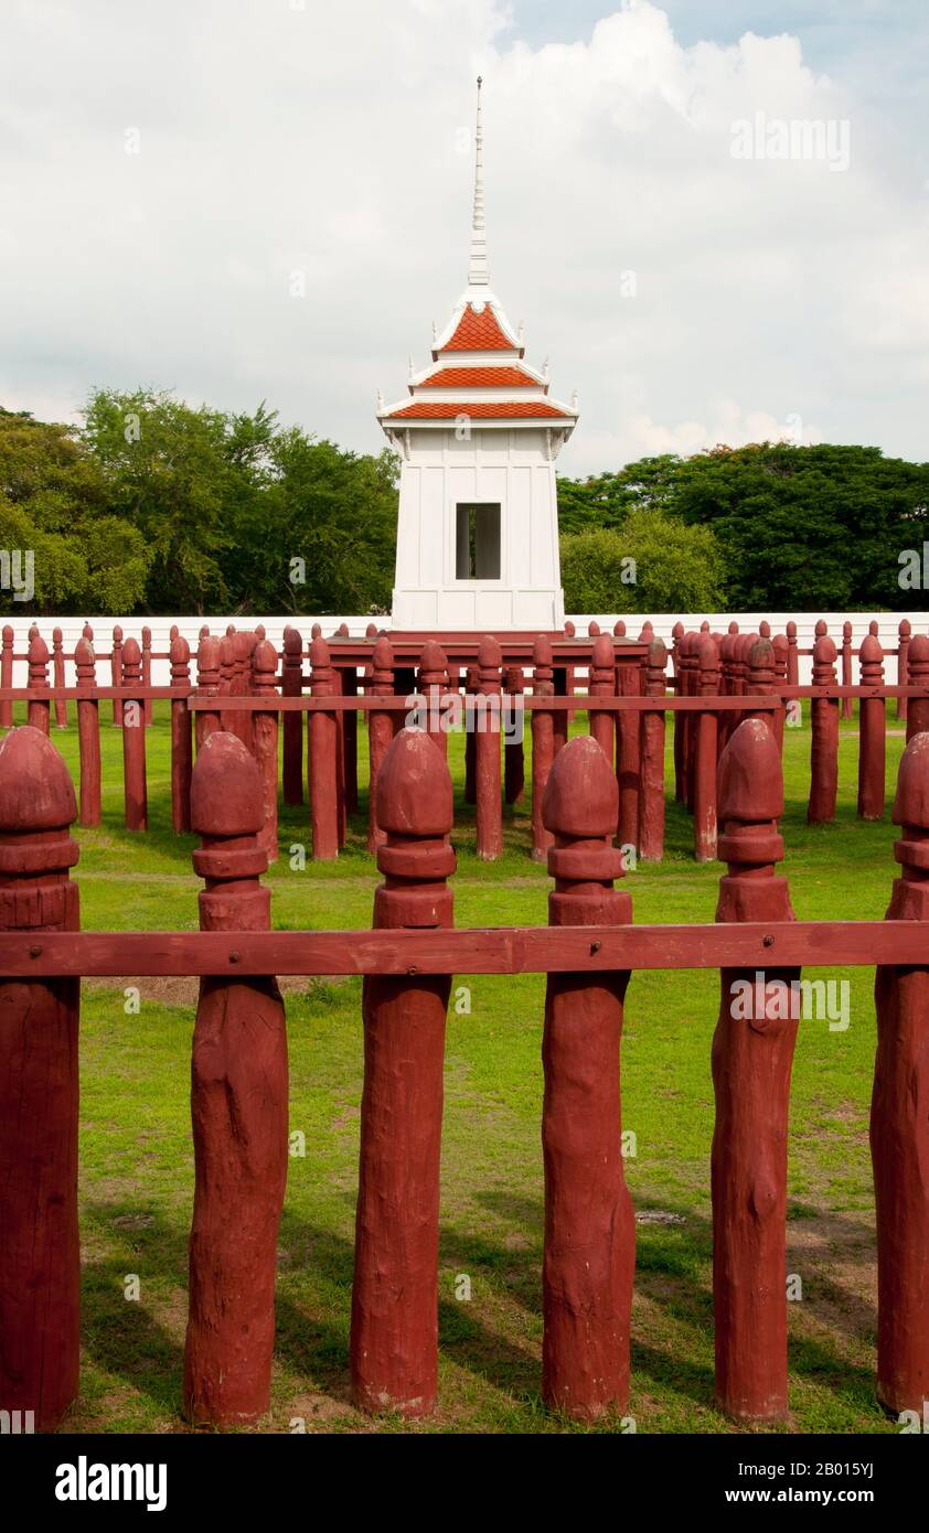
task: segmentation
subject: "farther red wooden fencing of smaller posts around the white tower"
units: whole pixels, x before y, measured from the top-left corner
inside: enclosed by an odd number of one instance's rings
[[[802,687],[799,658],[806,652],[797,645],[793,622],[773,638],[765,622],[759,633],[734,632],[736,624],[725,635],[710,633],[708,625],[699,633],[685,633],[681,624],[678,629],[670,656],[648,625],[630,641],[622,621],[613,635],[592,632],[584,641],[573,635],[504,636],[506,653],[530,664],[506,664],[498,638],[448,636],[452,653],[460,658],[474,652],[475,664],[466,665],[464,675],[460,665],[449,662],[437,639],[419,636],[414,642],[409,636],[371,632],[365,642],[350,641],[346,633],[328,641],[314,632],[305,652],[302,636],[288,629],[279,655],[259,627],[222,638],[204,632],[192,678],[190,647],[175,635],[169,652],[169,687],[150,685],[152,661],[159,656],[152,653],[147,630],[140,644],[117,629],[107,656],[110,685],[98,684],[92,635],[86,632],[72,656],[74,688],[61,679],[67,656],[58,641],[54,679],[49,681],[48,645],[35,629],[28,655],[29,684],[25,688],[9,685],[14,656],[6,647],[12,630],[6,629],[0,724],[12,722],[12,704],[18,699],[28,704],[29,722],[48,733],[52,710],[55,722],[63,724],[69,701],[77,704],[80,823],[98,825],[100,704],[112,704],[113,722],[123,727],[126,825],[144,831],[144,730],[153,699],[167,699],[172,705],[175,829],[190,829],[195,745],[201,750],[212,733],[225,730],[238,734],[259,763],[265,802],[262,845],[268,855],[277,855],[279,789],[287,805],[300,805],[307,774],[313,857],[327,860],[339,855],[348,816],[359,809],[359,745],[363,744],[359,716],[368,722],[369,783],[376,786],[380,762],[397,727],[411,713],[409,698],[414,696],[426,731],[443,751],[449,728],[466,730],[464,797],[475,805],[478,857],[491,860],[503,849],[503,805],[518,803],[527,789],[523,721],[530,719],[532,728],[532,851],[543,858],[550,845],[541,816],[547,776],[567,740],[570,717],[586,710],[592,736],[615,762],[619,842],[636,857],[659,860],[664,851],[665,721],[671,713],[675,796],[693,814],[694,855],[705,862],[716,857],[719,754],[740,719],[773,711],[782,745],[785,728],[802,722],[802,702],[808,702],[808,814],[812,823],[828,823],[835,812],[839,721],[840,714],[851,716],[852,699],[858,698],[858,814],[863,819],[883,816],[886,704],[895,702],[898,717],[906,717],[908,734],[929,724],[927,636],[912,638],[909,621],[903,619],[897,667],[904,679],[891,684],[885,678],[875,622],[857,655],[851,648],[851,624],[845,624],[840,675],[839,652],[820,622],[809,652],[812,685]],[[305,658],[310,661],[307,673]],[[414,667],[411,659],[415,659]],[[854,661],[857,684],[852,681]],[[587,671],[586,691],[575,691],[578,668]],[[507,722],[514,725],[510,733]],[[373,852],[383,840],[376,802],[376,791],[369,791],[368,848]]]

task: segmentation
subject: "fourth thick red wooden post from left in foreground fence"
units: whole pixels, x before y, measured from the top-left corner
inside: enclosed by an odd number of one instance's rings
[[[570,740],[544,799],[555,835],[550,926],[632,921],[629,894],[613,889],[622,877],[613,846],[618,799],[596,740]],[[550,973],[546,986],[543,1397],[581,1420],[624,1410],[629,1397],[635,1214],[622,1174],[619,1105],[627,984],[625,972],[601,972]]]

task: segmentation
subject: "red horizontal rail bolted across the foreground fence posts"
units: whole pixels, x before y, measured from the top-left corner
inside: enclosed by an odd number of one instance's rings
[[[929,967],[929,921],[350,932],[2,932],[0,977]]]

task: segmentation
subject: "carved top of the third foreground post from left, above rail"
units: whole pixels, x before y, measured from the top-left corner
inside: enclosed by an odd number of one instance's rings
[[[448,843],[454,823],[448,762],[423,730],[400,730],[377,773],[377,848],[385,875],[374,894],[376,926],[451,926],[455,871]]]

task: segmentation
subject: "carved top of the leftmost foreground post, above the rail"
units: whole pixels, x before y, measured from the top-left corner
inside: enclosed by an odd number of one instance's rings
[[[41,730],[0,740],[0,929],[77,931],[78,889],[67,869],[78,845],[71,774]]]

